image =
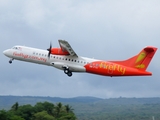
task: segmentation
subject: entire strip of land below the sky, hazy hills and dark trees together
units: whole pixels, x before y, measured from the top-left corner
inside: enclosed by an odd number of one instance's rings
[[[16,101],[19,103],[15,103]],[[50,101],[51,103],[39,101]],[[65,105],[55,104],[59,101]],[[28,103],[34,106],[24,105]],[[2,109],[0,120],[75,120],[73,109],[67,104],[74,107],[78,120],[152,120],[153,116],[155,120],[160,120],[160,98],[78,97],[62,99],[14,96],[0,96],[0,108]]]

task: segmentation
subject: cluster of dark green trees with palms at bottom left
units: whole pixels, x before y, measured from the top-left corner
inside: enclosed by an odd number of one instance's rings
[[[0,120],[76,120],[69,105],[38,102],[35,106],[16,102],[10,110],[0,110]]]

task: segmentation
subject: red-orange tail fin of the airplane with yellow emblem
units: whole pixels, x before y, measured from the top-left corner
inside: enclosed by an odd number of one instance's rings
[[[128,67],[137,68],[140,70],[146,70],[156,51],[157,51],[156,47],[148,46],[148,47],[145,47],[139,54],[127,60],[112,61],[112,62],[121,64],[124,66],[128,66]]]

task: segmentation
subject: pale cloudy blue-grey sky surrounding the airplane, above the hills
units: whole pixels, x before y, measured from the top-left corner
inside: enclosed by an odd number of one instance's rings
[[[102,60],[127,59],[151,45],[160,47],[159,0],[1,0],[1,53],[14,45],[47,49],[67,40],[74,51]],[[152,77],[104,77],[14,61],[0,55],[0,95],[160,97],[159,50]]]

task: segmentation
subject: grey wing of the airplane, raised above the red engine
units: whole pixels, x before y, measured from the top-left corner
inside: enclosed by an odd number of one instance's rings
[[[74,50],[72,49],[72,47],[70,46],[70,44],[65,41],[65,40],[58,40],[59,41],[59,45],[61,47],[61,49],[63,51],[67,51],[71,56],[77,56],[77,54],[74,52]]]

